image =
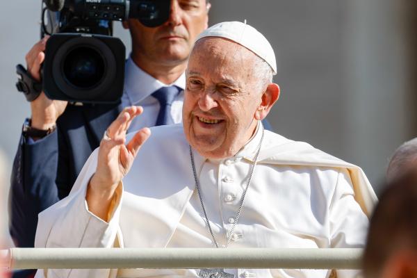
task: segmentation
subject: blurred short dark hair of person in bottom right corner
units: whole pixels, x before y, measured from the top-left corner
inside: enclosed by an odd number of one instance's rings
[[[417,254],[417,165],[391,181],[379,198],[370,220],[363,255],[366,277],[378,277],[390,256],[398,250]]]

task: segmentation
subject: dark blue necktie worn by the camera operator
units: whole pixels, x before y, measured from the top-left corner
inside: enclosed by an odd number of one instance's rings
[[[177,86],[162,87],[152,94],[152,97],[158,99],[159,104],[161,105],[155,126],[174,124],[174,120],[172,120],[171,117],[171,105],[172,101],[174,101],[175,97],[178,95],[179,90],[181,89]]]

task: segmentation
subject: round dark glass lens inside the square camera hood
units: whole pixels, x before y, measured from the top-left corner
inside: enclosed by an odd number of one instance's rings
[[[103,57],[91,47],[74,47],[63,62],[63,75],[78,88],[92,88],[103,79],[106,65]]]

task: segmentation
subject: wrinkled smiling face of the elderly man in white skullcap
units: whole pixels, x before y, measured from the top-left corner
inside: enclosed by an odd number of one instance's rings
[[[234,156],[256,128],[262,88],[252,74],[255,54],[223,38],[203,38],[186,70],[183,128],[207,158]]]

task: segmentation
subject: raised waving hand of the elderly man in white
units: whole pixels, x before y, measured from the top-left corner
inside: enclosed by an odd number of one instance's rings
[[[103,220],[106,220],[117,186],[129,172],[140,147],[151,135],[151,131],[145,127],[137,131],[129,143],[124,145],[127,129],[133,118],[142,111],[140,106],[124,108],[108,127],[108,138],[103,138],[100,142],[97,170],[90,179],[85,199],[88,209]]]

